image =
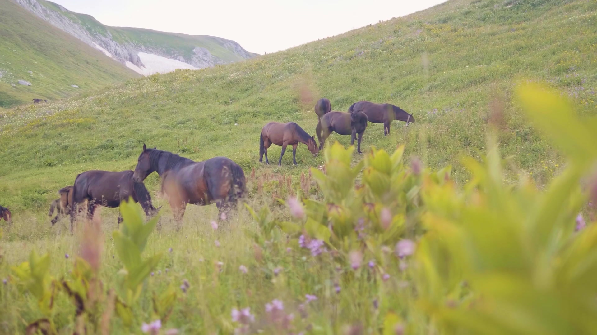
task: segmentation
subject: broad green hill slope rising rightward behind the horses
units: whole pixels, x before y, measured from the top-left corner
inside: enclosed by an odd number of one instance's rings
[[[48,197],[88,169],[134,168],[141,145],[195,160],[227,156],[248,173],[262,166],[264,123],[296,121],[313,135],[316,98],[333,110],[358,100],[389,102],[414,114],[392,133],[371,124],[363,146],[406,144],[432,167],[484,150],[488,110],[501,110],[501,152],[542,184],[561,169],[558,152],[537,137],[510,103],[519,79],[549,80],[595,114],[597,3],[594,1],[453,0],[403,18],[363,27],[255,60],[127,82],[0,119],[0,198],[15,207]],[[349,137],[332,135],[349,144]],[[280,148],[270,148],[270,160]],[[322,162],[304,145],[298,168],[287,151],[282,168],[300,173]],[[157,176],[147,181],[155,190]],[[3,204],[3,206],[6,206]]]

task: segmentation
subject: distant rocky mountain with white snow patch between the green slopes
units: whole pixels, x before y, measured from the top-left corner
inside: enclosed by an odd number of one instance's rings
[[[44,0],[16,0],[23,8],[104,52],[141,75],[175,69],[202,69],[255,57],[238,43],[214,36],[104,26],[93,16],[74,13]]]

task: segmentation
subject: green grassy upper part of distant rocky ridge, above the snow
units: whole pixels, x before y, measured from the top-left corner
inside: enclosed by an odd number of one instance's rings
[[[101,35],[110,37],[119,44],[143,45],[147,48],[156,48],[167,51],[171,55],[179,54],[189,59],[193,55],[196,46],[208,49],[212,55],[220,58],[224,63],[244,60],[241,55],[226,48],[226,39],[214,36],[192,36],[180,33],[158,32],[156,30],[131,28],[131,27],[110,27],[100,23],[91,15],[74,13],[60,10],[59,5],[51,1],[39,1],[57,13],[64,15],[75,23],[81,24],[92,36]],[[248,54],[256,56],[249,52]]]

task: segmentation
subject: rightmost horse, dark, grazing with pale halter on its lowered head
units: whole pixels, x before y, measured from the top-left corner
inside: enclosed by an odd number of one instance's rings
[[[390,134],[390,125],[392,120],[404,121],[407,123],[414,122],[413,114],[408,114],[402,108],[392,104],[376,104],[371,101],[358,101],[348,108],[349,112],[362,111],[367,114],[367,118],[371,123],[383,123],[383,135]]]

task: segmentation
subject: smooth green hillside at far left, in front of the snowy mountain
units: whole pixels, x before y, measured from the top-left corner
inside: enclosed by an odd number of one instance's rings
[[[33,98],[70,97],[139,77],[10,0],[0,0],[0,73],[4,108],[31,103]],[[18,80],[32,85],[19,85]]]

